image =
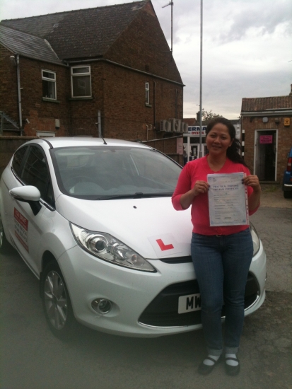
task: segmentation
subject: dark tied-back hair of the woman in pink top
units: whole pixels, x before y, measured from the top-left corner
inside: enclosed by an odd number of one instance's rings
[[[224,124],[228,128],[230,138],[231,140],[233,140],[231,146],[228,147],[226,151],[226,155],[228,156],[230,161],[233,161],[235,163],[242,163],[243,166],[246,166],[248,168],[243,157],[240,156],[240,148],[241,148],[240,141],[235,138],[235,134],[236,134],[235,128],[233,124],[230,122],[230,120],[226,119],[225,117],[216,117],[216,119],[211,120],[211,122],[207,124],[206,135],[208,135],[211,129],[214,127],[214,125],[218,123]]]

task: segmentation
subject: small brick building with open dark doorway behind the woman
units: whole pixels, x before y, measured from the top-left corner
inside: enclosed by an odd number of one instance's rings
[[[243,98],[245,162],[262,182],[281,182],[292,146],[292,85],[286,96]]]

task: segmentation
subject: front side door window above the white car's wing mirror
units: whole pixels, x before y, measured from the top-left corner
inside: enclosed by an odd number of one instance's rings
[[[54,204],[52,183],[49,178],[49,168],[45,159],[45,153],[37,147],[30,146],[28,157],[25,160],[21,173],[21,180],[25,185],[33,185],[40,190],[42,199],[49,204]]]

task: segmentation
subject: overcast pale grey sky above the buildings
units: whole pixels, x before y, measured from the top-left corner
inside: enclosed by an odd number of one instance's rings
[[[25,18],[128,0],[0,0],[0,19]],[[170,45],[170,0],[152,0]],[[184,117],[199,111],[200,0],[173,2],[173,56],[185,83]],[[202,108],[236,119],[242,98],[288,95],[291,0],[203,0]]]

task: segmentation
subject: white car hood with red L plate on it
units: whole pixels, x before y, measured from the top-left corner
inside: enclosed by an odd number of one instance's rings
[[[190,209],[175,211],[170,197],[90,201],[62,194],[56,209],[77,226],[110,233],[143,257],[190,255]]]

